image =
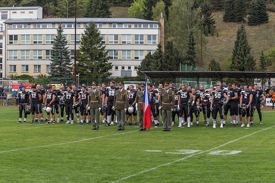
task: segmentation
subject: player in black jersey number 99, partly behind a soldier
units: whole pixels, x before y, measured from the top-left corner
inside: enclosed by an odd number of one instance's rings
[[[110,86],[107,87],[106,90],[106,101],[107,101],[107,124],[105,126],[110,126],[110,120],[111,120],[111,115],[115,115],[115,110],[112,110],[112,107],[114,105],[114,96],[115,96],[115,91],[118,90],[118,87],[115,86],[116,82],[115,81],[110,81]],[[111,125],[113,125],[114,122],[112,120]]]

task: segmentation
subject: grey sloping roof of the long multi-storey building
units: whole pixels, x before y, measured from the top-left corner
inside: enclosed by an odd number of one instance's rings
[[[74,18],[38,18],[38,19],[9,19],[4,23],[74,23]],[[78,23],[160,23],[157,21],[137,18],[77,18]]]

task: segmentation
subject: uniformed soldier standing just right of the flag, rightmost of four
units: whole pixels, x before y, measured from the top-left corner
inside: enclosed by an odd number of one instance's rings
[[[161,114],[163,116],[163,131],[171,131],[171,114],[175,107],[175,93],[169,90],[169,83],[163,83],[164,90],[160,92]]]

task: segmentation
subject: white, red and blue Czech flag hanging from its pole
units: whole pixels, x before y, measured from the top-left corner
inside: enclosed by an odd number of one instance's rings
[[[146,80],[145,80],[145,93],[143,95],[142,106],[143,106],[143,112],[144,112],[143,126],[147,129],[150,129],[152,126],[152,117],[151,117],[150,99],[149,99]]]

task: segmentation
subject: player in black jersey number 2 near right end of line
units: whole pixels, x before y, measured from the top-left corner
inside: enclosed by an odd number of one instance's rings
[[[244,127],[244,122],[245,122],[245,114],[247,117],[247,127],[249,127],[249,122],[250,122],[250,112],[251,112],[251,102],[253,98],[253,92],[248,91],[248,86],[244,86],[244,91],[241,91],[241,96],[240,96],[240,106],[242,107],[242,125],[241,127]],[[244,106],[243,106],[244,104]],[[245,106],[246,105],[246,106]]]

